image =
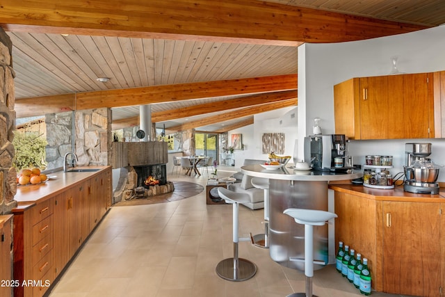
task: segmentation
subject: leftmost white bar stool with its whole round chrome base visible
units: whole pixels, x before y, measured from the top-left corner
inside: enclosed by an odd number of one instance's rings
[[[218,194],[227,203],[233,204],[233,241],[234,257],[227,258],[216,265],[216,273],[225,280],[241,282],[252,278],[257,273],[257,266],[249,260],[238,257],[238,241],[250,241],[248,238],[238,237],[238,209],[240,203],[249,202],[250,198],[245,193],[235,193],[222,186],[218,187]]]

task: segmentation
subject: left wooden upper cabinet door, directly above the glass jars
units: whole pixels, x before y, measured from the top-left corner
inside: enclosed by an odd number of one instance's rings
[[[387,77],[363,77],[360,84],[360,139],[388,138]]]

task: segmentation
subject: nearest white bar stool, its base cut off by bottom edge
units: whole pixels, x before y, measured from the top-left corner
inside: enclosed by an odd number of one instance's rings
[[[326,265],[323,261],[314,261],[314,226],[323,226],[327,220],[337,218],[337,214],[329,211],[315,209],[285,209],[283,214],[291,216],[296,223],[305,225],[305,275],[306,275],[306,292],[294,293],[287,297],[312,297],[312,278],[314,277],[314,263]],[[301,261],[290,257],[291,261]],[[316,296],[315,296],[316,297]]]

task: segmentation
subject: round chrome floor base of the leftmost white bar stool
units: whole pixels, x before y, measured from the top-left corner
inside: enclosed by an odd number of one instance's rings
[[[220,278],[242,282],[252,278],[257,273],[257,266],[249,260],[238,258],[238,272],[235,271],[236,264],[234,258],[223,259],[216,265],[216,273]]]

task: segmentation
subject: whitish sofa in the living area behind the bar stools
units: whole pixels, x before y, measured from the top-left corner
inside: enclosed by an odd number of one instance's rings
[[[254,159],[245,159],[243,165],[252,165],[264,163],[264,160],[254,160]],[[241,172],[236,172],[233,175],[238,181],[235,184],[228,184],[227,188],[230,191],[234,191],[236,193],[246,193],[250,196],[250,202],[243,203],[245,207],[250,209],[262,209],[264,208],[264,190],[261,188],[255,188],[252,186],[252,177],[248,175],[244,175]]]

